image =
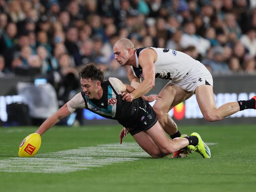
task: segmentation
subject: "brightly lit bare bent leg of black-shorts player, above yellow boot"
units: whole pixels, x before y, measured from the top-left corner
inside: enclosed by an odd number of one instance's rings
[[[170,155],[189,145],[187,138],[175,138],[170,140],[158,121],[153,127],[147,130],[146,133],[151,137],[158,149],[160,149],[164,154]]]

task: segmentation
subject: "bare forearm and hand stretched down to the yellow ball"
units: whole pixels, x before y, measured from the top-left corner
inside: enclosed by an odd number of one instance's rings
[[[55,114],[50,116],[48,119],[43,122],[43,124],[37,129],[36,133],[42,135],[52,126],[54,126],[60,119],[67,117],[70,114],[69,109],[67,108],[67,103],[62,106]]]

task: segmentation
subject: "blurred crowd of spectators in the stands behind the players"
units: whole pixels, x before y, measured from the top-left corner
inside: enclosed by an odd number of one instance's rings
[[[0,76],[45,77],[64,102],[86,63],[126,76],[121,38],[183,51],[213,75],[256,74],[256,1],[0,0]]]

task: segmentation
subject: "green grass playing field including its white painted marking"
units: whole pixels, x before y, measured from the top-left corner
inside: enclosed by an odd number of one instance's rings
[[[180,126],[182,133],[200,133],[210,159],[196,152],[153,159],[131,135],[120,145],[120,126],[54,127],[34,158],[19,158],[19,144],[36,129],[0,128],[1,191],[256,191],[255,125]]]

